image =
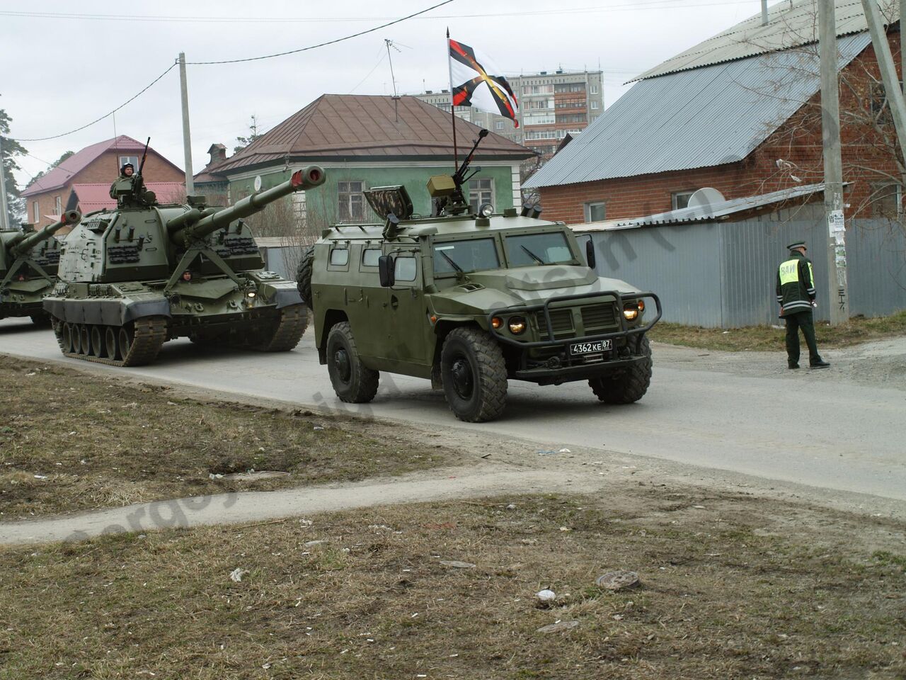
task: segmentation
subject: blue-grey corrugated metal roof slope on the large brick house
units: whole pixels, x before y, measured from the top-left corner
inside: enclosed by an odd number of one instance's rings
[[[841,38],[841,68],[869,42],[867,33]],[[818,58],[811,50],[786,50],[635,83],[523,186],[742,160],[819,87]]]

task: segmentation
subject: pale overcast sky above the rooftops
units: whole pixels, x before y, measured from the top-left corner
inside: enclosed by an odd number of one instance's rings
[[[282,0],[0,5],[0,109],[11,137],[82,127],[126,102],[174,63],[279,53],[358,33],[442,0]],[[771,4],[774,4],[773,2]],[[426,15],[340,44],[246,63],[188,66],[192,164],[207,148],[245,136],[251,114],[267,131],[319,95],[390,94],[384,38],[400,93],[448,86],[445,30],[487,53],[505,73],[601,68],[604,104],[633,76],[760,12],[759,0],[452,0]],[[78,14],[74,14],[78,13]],[[253,14],[254,13],[254,14]],[[56,15],[56,16],[54,16]],[[669,106],[670,102],[664,102]],[[24,187],[64,151],[126,134],[184,166],[178,68],[134,102],[85,130],[23,141]]]

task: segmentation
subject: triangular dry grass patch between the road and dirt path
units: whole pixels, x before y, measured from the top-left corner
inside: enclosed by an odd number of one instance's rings
[[[224,491],[354,481],[456,454],[307,412],[180,399],[65,368],[0,368],[0,519]],[[315,428],[323,429],[315,429]],[[357,427],[357,429],[353,429]],[[259,481],[211,479],[286,471]]]

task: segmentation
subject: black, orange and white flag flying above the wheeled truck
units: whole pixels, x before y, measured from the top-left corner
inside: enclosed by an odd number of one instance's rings
[[[455,40],[449,40],[449,47],[453,105],[475,106],[482,111],[499,113],[519,127],[516,94],[487,56]]]

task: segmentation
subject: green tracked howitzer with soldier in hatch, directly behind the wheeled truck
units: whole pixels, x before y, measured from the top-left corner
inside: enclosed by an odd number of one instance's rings
[[[229,208],[159,205],[141,172],[120,176],[117,209],[85,216],[66,239],[44,309],[63,354],[120,366],[148,364],[167,340],[283,352],[307,325],[292,281],[264,271],[243,218],[324,181],[316,166]]]

